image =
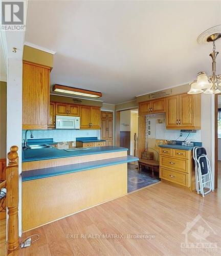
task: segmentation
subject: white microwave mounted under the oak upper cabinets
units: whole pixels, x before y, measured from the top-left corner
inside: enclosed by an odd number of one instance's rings
[[[80,129],[79,116],[56,116],[56,129]]]

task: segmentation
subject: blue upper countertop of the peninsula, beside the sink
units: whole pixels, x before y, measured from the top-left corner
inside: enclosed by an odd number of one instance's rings
[[[64,158],[64,157],[75,157],[75,156],[84,156],[84,155],[94,155],[102,153],[111,153],[119,151],[128,151],[128,148],[118,147],[118,146],[96,146],[91,147],[91,150],[85,151],[65,151],[58,150],[55,147],[52,148],[40,148],[38,150],[23,150],[22,161],[39,161],[47,160],[54,158]]]

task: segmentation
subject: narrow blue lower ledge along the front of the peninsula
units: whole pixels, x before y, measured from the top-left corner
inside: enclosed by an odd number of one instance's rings
[[[105,167],[110,165],[134,162],[138,160],[139,158],[133,157],[133,156],[116,157],[116,158],[91,161],[86,163],[76,163],[76,164],[69,164],[69,165],[63,165],[58,167],[28,170],[26,172],[22,172],[21,177],[23,181],[36,180],[36,179],[42,179],[42,178],[58,176],[63,174],[81,172],[82,170],[90,170],[90,169],[95,169],[95,168],[100,168],[100,167]]]

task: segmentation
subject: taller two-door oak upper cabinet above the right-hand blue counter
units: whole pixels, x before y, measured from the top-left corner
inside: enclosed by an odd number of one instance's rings
[[[201,95],[181,94],[166,98],[167,129],[201,129]]]

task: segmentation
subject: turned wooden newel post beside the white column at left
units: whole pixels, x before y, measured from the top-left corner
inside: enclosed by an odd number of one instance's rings
[[[8,153],[6,168],[7,208],[8,208],[8,250],[15,250],[18,245],[18,147],[12,146]]]

